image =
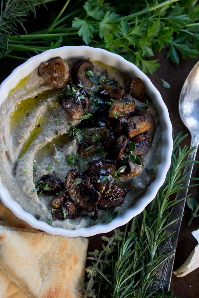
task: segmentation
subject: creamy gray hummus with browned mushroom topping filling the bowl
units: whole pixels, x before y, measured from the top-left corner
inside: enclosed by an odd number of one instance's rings
[[[161,162],[143,82],[92,59],[42,63],[10,90],[0,126],[2,185],[52,226],[111,221],[146,192]]]

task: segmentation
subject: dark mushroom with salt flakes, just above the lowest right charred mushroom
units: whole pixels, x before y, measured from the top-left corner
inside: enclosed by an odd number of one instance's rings
[[[116,161],[111,159],[99,159],[93,162],[89,169],[88,175],[91,178],[99,179],[100,175],[112,175],[116,168]]]

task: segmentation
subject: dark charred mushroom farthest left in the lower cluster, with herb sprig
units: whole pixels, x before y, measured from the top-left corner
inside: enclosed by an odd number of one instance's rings
[[[56,177],[56,175],[44,175],[39,180],[39,191],[42,190],[42,193],[45,195],[55,195],[59,191],[64,189],[64,182],[59,179],[59,177]],[[50,190],[45,190],[45,186],[50,188]]]

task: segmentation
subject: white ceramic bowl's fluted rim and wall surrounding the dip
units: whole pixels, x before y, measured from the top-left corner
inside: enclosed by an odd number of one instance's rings
[[[3,81],[0,86],[0,105],[6,99],[8,92],[12,89],[19,80],[25,75],[29,74],[33,69],[38,67],[41,62],[47,61],[50,58],[60,56],[63,59],[82,59],[82,58],[93,58],[95,60],[102,61],[103,63],[113,66],[120,70],[124,74],[130,77],[139,77],[145,86],[146,94],[153,99],[153,103],[160,117],[160,125],[162,128],[162,153],[161,153],[161,163],[159,170],[157,172],[156,179],[150,184],[146,193],[142,195],[133,207],[127,209],[123,215],[115,218],[109,224],[96,224],[89,228],[80,228],[76,230],[66,230],[62,228],[56,228],[48,225],[45,222],[38,221],[29,213],[25,212],[19,204],[10,198],[7,190],[0,184],[0,198],[5,206],[7,206],[12,212],[22,220],[26,221],[30,226],[34,228],[41,229],[49,234],[53,235],[63,235],[67,237],[77,237],[77,236],[93,236],[100,233],[106,233],[118,226],[122,226],[130,221],[131,218],[143,211],[143,209],[149,204],[157,194],[157,191],[163,184],[166,173],[169,169],[171,163],[171,155],[173,148],[172,141],[172,125],[169,119],[169,113],[166,108],[165,103],[159,93],[159,91],[153,86],[149,78],[141,72],[134,64],[128,62],[119,55],[110,53],[104,49],[91,48],[89,46],[63,46],[58,49],[50,49],[42,54],[34,56],[28,59],[25,63],[18,66],[10,75]]]

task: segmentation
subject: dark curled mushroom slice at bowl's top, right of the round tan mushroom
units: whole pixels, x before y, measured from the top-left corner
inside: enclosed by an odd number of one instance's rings
[[[93,86],[93,83],[89,80],[89,77],[86,74],[89,70],[94,70],[94,65],[91,61],[85,59],[76,61],[71,69],[73,83],[76,85],[83,85],[88,89]]]

